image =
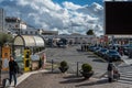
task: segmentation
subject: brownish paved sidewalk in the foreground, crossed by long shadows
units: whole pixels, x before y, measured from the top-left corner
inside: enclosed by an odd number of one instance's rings
[[[107,78],[91,77],[86,80],[75,74],[37,73],[29,76],[16,88],[132,88],[132,85],[108,82]]]

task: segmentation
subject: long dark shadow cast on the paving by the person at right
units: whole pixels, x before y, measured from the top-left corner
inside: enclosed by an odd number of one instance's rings
[[[87,84],[85,82],[85,84],[76,85],[76,87],[103,85],[103,84],[108,84],[108,79],[101,79],[101,80],[97,80],[97,81],[88,81]]]

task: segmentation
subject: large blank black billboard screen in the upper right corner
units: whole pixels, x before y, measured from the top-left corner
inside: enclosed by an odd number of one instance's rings
[[[105,34],[132,34],[132,1],[105,2]]]

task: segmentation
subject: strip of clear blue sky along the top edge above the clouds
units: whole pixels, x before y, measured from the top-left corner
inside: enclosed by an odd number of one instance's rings
[[[57,2],[57,3],[62,3],[64,1],[69,1],[69,2],[73,2],[75,4],[80,4],[80,6],[85,6],[85,4],[91,4],[92,2],[97,2],[97,3],[100,3],[102,4],[102,0],[53,0],[54,2]]]

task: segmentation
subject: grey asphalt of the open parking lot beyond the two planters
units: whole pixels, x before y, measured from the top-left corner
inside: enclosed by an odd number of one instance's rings
[[[46,48],[47,62],[52,59],[54,63],[66,61],[69,65],[68,73],[77,74],[77,63],[80,69],[84,63],[88,63],[95,70],[95,76],[99,76],[107,72],[107,63],[91,52],[81,52],[79,45],[69,46],[67,48]],[[57,70],[57,69],[56,69]]]

